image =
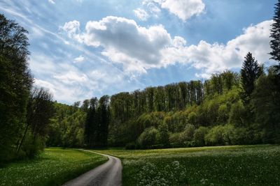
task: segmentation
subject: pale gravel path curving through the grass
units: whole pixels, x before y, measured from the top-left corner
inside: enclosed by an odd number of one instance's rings
[[[86,150],[93,153],[90,150]],[[95,153],[95,152],[94,152]],[[97,153],[104,155],[102,153]],[[94,186],[120,186],[122,185],[122,163],[117,157],[111,155],[104,155],[109,160],[96,168],[83,173],[73,180],[64,183],[66,186],[81,186],[81,185],[94,185]]]

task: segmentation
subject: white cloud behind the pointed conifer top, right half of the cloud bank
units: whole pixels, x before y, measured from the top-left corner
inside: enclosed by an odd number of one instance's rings
[[[188,61],[193,61],[195,68],[203,69],[203,73],[208,75],[225,69],[240,68],[248,52],[252,52],[260,63],[265,63],[269,60],[271,24],[272,21],[265,21],[248,26],[243,34],[228,41],[226,45],[211,45],[205,41],[191,45],[186,49]]]

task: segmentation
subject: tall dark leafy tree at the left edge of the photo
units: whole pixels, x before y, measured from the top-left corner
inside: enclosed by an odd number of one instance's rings
[[[24,127],[32,77],[27,31],[0,14],[0,162],[13,157]]]

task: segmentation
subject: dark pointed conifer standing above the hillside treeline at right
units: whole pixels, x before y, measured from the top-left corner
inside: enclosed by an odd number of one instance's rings
[[[245,56],[245,61],[241,68],[241,98],[245,104],[251,100],[251,93],[255,88],[255,80],[262,75],[262,68],[258,65],[258,61],[252,56],[251,52]]]

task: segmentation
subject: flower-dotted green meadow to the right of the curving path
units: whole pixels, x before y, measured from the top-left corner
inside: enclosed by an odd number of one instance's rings
[[[280,185],[280,146],[94,150],[120,157],[123,185]]]

